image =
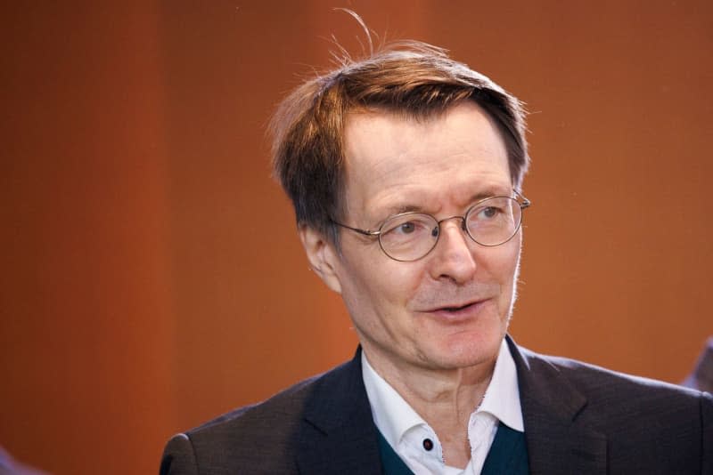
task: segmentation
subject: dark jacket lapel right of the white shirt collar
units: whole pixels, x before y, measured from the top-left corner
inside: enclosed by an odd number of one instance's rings
[[[518,371],[530,473],[606,473],[606,437],[579,422],[586,397],[550,362],[509,336],[507,342]]]

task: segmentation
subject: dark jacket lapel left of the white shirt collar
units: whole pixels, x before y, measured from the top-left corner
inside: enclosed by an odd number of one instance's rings
[[[362,379],[361,349],[325,374],[305,400],[300,473],[380,474],[377,429]]]

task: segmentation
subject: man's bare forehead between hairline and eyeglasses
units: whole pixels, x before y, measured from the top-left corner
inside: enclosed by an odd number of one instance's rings
[[[348,213],[438,213],[473,197],[510,194],[504,141],[472,102],[426,119],[355,113],[344,138]]]

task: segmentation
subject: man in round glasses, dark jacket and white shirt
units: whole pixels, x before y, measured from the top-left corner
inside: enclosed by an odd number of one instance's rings
[[[709,394],[507,336],[524,130],[515,98],[418,43],[283,101],[275,174],[360,348],[178,434],[161,473],[713,473]]]

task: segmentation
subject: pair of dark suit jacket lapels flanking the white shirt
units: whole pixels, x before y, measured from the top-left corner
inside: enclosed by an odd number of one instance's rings
[[[510,337],[507,342],[518,372],[530,473],[606,473],[606,437],[579,422],[586,397],[544,358],[521,350]],[[381,473],[360,349],[315,384],[303,414],[296,434],[301,473]]]

